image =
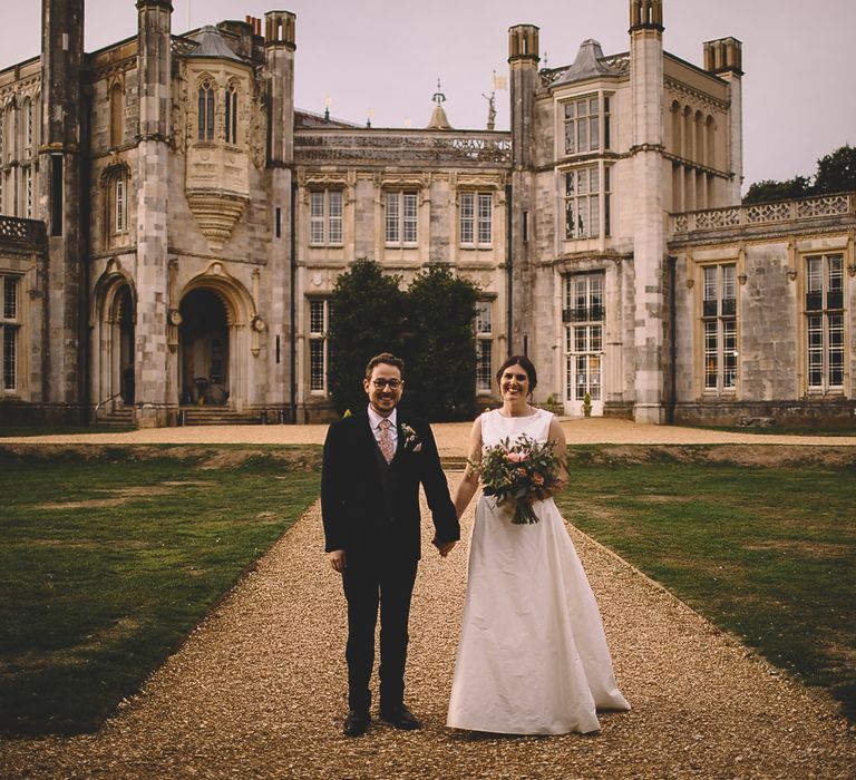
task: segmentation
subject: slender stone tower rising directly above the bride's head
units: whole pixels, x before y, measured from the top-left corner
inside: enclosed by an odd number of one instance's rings
[[[538,28],[517,25],[508,29],[508,65],[512,100],[512,218],[509,279],[508,353],[528,352],[529,319],[534,308],[532,274],[535,221],[533,143],[535,91],[538,86]]]

